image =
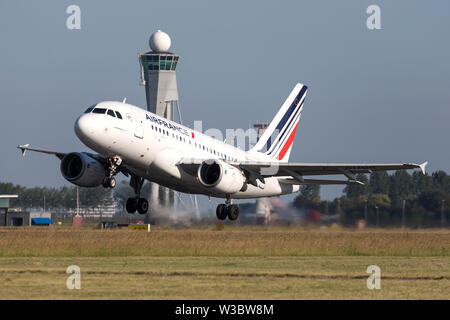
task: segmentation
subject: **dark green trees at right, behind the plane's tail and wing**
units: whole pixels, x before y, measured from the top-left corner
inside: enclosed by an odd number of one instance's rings
[[[347,185],[344,194],[332,201],[320,199],[320,186],[302,186],[293,205],[339,214],[340,223],[348,226],[361,219],[371,226],[437,227],[450,222],[450,175],[445,171],[373,172],[356,178],[364,185]]]

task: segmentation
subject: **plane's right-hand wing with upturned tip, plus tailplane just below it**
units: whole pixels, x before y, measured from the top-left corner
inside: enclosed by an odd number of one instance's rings
[[[191,174],[196,174],[196,169],[201,165],[200,159],[183,159],[179,165]],[[256,185],[256,179],[264,183],[264,178],[279,177],[283,184],[350,184],[359,183],[356,180],[358,173],[372,173],[375,171],[407,170],[420,168],[425,174],[428,162],[391,163],[391,164],[342,164],[342,163],[301,163],[301,162],[228,162],[247,173],[250,183]],[[306,179],[304,176],[321,176],[342,174],[348,180]]]

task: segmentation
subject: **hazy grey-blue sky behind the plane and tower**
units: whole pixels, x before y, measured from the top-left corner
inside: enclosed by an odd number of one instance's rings
[[[66,8],[81,8],[81,30]],[[366,9],[381,9],[368,30]],[[172,38],[185,124],[248,128],[309,87],[290,161],[429,161],[450,169],[449,1],[0,2],[0,181],[69,184],[59,160],[18,144],[87,150],[73,123],[90,104],[145,107],[138,52]],[[324,197],[341,187],[323,187]]]

